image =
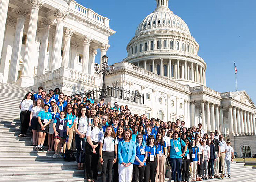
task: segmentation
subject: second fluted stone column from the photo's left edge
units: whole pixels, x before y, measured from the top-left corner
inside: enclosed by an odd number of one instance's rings
[[[19,67],[20,50],[22,45],[22,36],[23,36],[23,30],[24,30],[24,22],[26,19],[26,15],[29,14],[29,12],[22,7],[16,8],[14,12],[18,15],[18,18],[17,18],[16,28],[15,28],[10,71],[9,71],[8,80],[7,80],[7,83],[12,83],[12,84],[15,84],[15,80],[17,80],[17,76],[18,76],[18,67]]]

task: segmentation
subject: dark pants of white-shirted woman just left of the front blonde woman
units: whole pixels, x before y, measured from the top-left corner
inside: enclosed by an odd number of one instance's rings
[[[76,161],[77,163],[84,163],[85,138],[80,138],[79,135],[76,134],[75,140],[76,140]]]

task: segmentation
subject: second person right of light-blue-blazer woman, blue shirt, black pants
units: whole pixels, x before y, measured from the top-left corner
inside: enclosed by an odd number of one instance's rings
[[[155,182],[157,171],[159,171],[159,147],[155,141],[154,135],[150,135],[147,139],[145,151],[148,152],[146,160],[146,169],[144,174],[144,182]]]

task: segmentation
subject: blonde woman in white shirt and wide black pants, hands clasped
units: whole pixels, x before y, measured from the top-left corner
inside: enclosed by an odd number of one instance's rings
[[[97,181],[99,163],[99,140],[104,135],[102,119],[94,116],[93,123],[87,129],[86,134],[86,174],[87,181]]]

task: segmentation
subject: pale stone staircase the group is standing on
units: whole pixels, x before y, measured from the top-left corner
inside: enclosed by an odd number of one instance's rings
[[[33,151],[31,131],[27,132],[27,137],[18,137],[19,104],[27,92],[31,90],[0,83],[0,182],[84,182],[84,171],[76,170],[76,162],[64,162],[63,158],[53,159],[53,152]],[[233,162],[231,178],[221,181],[256,182],[256,169]],[[171,180],[165,179],[165,182]]]

